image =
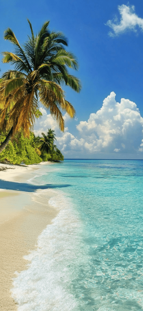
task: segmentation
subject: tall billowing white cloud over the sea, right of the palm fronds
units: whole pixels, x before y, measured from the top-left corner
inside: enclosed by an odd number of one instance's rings
[[[87,122],[81,121],[76,126],[90,152],[142,151],[143,118],[139,109],[128,99],[116,102],[115,96],[111,92],[100,110],[90,114]]]

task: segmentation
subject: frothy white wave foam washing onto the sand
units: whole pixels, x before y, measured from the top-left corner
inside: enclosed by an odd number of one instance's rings
[[[25,256],[28,269],[16,272],[13,281],[12,297],[18,311],[79,310],[71,280],[76,278],[76,269],[83,260],[82,225],[69,198],[54,190],[52,194],[48,203],[59,213],[39,235],[37,248]],[[46,190],[39,190],[33,199],[37,201],[42,195]]]

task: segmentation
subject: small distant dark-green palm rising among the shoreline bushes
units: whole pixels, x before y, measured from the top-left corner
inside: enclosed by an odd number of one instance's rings
[[[39,140],[39,143],[41,143],[40,145],[40,151],[41,152],[46,152],[46,153],[52,153],[54,151],[54,148],[56,148],[56,145],[54,145],[54,140],[56,139],[54,136],[55,134],[53,134],[54,131],[52,131],[51,129],[48,129],[47,135],[45,135],[44,133],[42,134],[42,138]]]

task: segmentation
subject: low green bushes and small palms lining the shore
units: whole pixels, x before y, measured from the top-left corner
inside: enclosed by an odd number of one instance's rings
[[[1,132],[0,142],[5,139],[5,134]],[[48,129],[47,135],[42,133],[42,137],[36,137],[30,133],[30,137],[24,137],[22,131],[15,134],[12,141],[0,154],[0,162],[9,161],[12,164],[26,165],[40,163],[42,161],[63,161],[64,156],[54,145],[54,131]]]

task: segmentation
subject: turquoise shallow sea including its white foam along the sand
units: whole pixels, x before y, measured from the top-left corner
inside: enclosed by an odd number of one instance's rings
[[[30,183],[59,214],[14,281],[19,311],[143,310],[142,176],[142,160],[41,167]]]

